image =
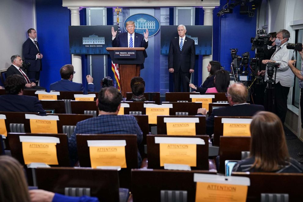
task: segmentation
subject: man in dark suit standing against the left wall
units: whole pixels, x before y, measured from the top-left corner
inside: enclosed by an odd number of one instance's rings
[[[38,84],[40,78],[40,70],[42,70],[41,59],[43,55],[40,53],[39,44],[35,39],[37,38],[37,32],[31,28],[27,30],[28,39],[22,46],[22,52],[25,63],[31,63],[27,69],[27,75],[29,79],[35,79],[35,83]]]

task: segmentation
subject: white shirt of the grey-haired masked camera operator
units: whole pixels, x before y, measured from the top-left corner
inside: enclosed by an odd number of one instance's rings
[[[280,49],[277,47],[276,52],[270,59],[280,64],[279,68],[277,68],[276,83],[280,82],[281,86],[292,87],[294,86],[294,74],[288,66],[288,61],[293,57],[294,53],[293,50],[287,49],[286,45],[287,42],[279,46],[281,47]],[[272,79],[275,80],[275,72]],[[268,75],[266,67],[265,81],[267,80]]]

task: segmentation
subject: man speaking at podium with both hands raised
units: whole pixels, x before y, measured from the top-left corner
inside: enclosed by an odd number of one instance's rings
[[[148,47],[148,29],[144,32],[144,37],[141,34],[135,33],[135,23],[133,21],[126,22],[127,32],[121,33],[118,36],[117,31],[114,30],[114,27],[111,27],[111,45],[113,47],[143,47],[147,49]],[[144,56],[147,57],[147,53],[144,50]],[[144,65],[141,64],[141,69],[144,68]]]

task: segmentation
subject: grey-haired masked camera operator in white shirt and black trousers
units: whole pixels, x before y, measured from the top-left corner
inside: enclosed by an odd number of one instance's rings
[[[263,64],[278,63],[279,67],[276,69],[273,79],[276,80],[275,84],[275,103],[276,114],[284,124],[287,112],[287,95],[290,87],[294,85],[294,74],[288,66],[288,61],[293,55],[292,50],[286,48],[290,38],[289,31],[282,29],[276,35],[276,51],[272,54],[270,60],[263,60]],[[265,81],[268,80],[267,68],[265,72]]]

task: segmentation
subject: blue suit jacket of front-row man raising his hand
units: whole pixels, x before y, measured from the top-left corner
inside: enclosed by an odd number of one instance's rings
[[[86,89],[82,86],[82,83],[75,83],[68,79],[61,79],[55,83],[50,84],[50,90],[56,91],[83,91],[83,94],[87,94]],[[88,92],[94,92],[95,85],[88,84]]]

